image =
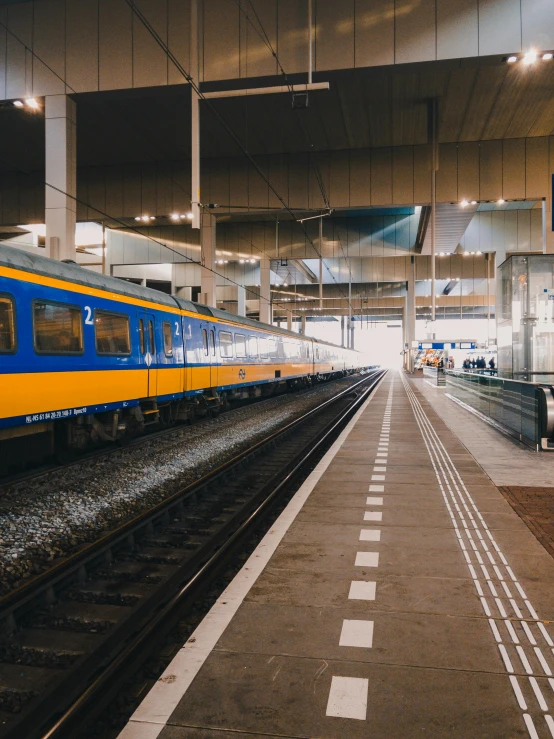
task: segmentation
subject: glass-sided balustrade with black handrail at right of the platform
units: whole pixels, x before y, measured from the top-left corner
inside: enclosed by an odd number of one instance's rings
[[[534,449],[554,450],[554,389],[483,372],[446,370],[450,396]]]

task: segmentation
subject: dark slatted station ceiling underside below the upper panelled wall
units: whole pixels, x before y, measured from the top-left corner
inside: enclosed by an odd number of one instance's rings
[[[252,155],[424,144],[428,104],[440,100],[439,140],[462,142],[554,133],[554,60],[525,67],[500,57],[321,73],[329,91],[310,93],[293,110],[288,94],[211,100]],[[292,82],[305,81],[292,79]],[[259,86],[282,79],[243,80]],[[235,87],[237,85],[235,84]],[[219,85],[221,89],[222,85]],[[211,89],[215,85],[210,86]],[[76,95],[81,166],[175,162],[190,154],[187,87]],[[240,148],[202,104],[202,155],[232,157]],[[0,109],[0,167],[44,165],[44,120]]]

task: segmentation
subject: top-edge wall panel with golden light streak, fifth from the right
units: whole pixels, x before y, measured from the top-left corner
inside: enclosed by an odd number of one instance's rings
[[[394,0],[355,0],[356,67],[394,64]]]

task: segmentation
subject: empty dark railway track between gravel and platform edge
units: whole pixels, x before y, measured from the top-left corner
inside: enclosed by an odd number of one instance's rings
[[[0,738],[78,736],[379,382],[376,371],[0,599]]]

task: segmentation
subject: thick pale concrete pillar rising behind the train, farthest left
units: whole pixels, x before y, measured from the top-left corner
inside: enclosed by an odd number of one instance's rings
[[[45,180],[46,255],[75,259],[77,126],[67,95],[45,98]]]

